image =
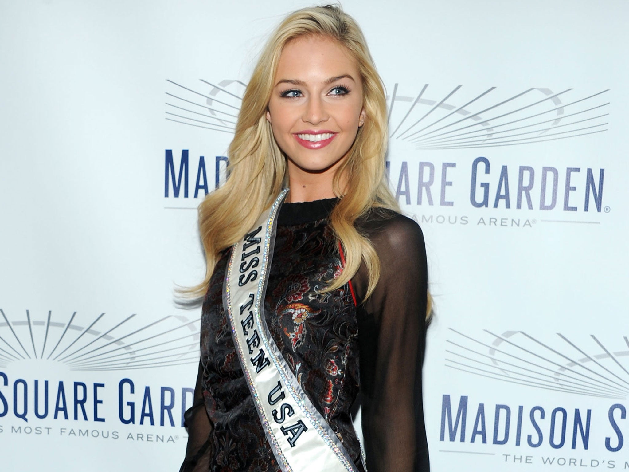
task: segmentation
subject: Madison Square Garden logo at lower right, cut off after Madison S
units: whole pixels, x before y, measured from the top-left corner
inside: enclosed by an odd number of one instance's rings
[[[463,382],[479,378],[488,388],[503,388],[506,397],[490,405],[478,393],[443,395],[439,439],[460,449],[443,452],[473,453],[491,445],[501,449],[480,450],[506,463],[529,457],[528,463],[538,466],[629,467],[626,336],[487,329],[470,335],[450,328],[444,351],[445,368],[463,373]],[[530,393],[530,404],[513,404],[508,393],[515,391]],[[545,398],[560,398],[562,404]],[[532,454],[540,446],[554,454]],[[606,455],[594,456],[593,449]]]

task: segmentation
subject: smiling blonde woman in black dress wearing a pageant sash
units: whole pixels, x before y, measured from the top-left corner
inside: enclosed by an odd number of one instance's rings
[[[425,246],[387,186],[386,98],[359,26],[335,6],[287,16],[241,110],[230,177],[199,207],[181,471],[428,471]]]

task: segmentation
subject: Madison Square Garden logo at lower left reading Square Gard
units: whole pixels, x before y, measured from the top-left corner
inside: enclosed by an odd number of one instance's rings
[[[111,429],[179,428],[192,405],[194,389],[168,385],[163,373],[198,364],[200,318],[141,318],[0,309],[0,432],[179,440],[167,429]],[[153,371],[157,385],[133,380]]]

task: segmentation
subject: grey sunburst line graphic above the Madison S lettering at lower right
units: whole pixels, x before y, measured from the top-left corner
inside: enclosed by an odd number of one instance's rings
[[[560,333],[542,339],[523,331],[490,330],[472,337],[450,328],[445,366],[530,388],[624,399],[629,393],[629,339],[601,339]]]

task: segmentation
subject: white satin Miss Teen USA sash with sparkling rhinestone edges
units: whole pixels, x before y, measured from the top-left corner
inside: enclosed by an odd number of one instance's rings
[[[287,189],[234,245],[223,304],[253,403],[283,472],[357,472],[337,435],[312,405],[272,340],[264,296],[276,236],[276,215]]]

